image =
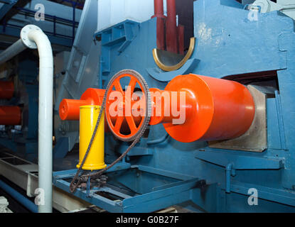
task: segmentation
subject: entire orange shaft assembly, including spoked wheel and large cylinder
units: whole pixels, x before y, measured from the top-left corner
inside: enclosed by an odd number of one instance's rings
[[[136,84],[139,86],[141,84],[129,74],[122,74],[113,83],[115,91],[124,97],[121,103],[117,101],[117,110],[122,109],[126,114],[127,106],[130,105],[131,116],[109,114],[110,106],[115,100],[110,100],[108,94],[106,118],[112,133],[129,138],[138,131],[143,122],[142,117],[134,116],[134,111],[140,110],[144,113],[145,104],[141,105],[143,106],[141,109],[139,107],[134,109],[136,100],[129,100],[126,95],[128,89],[126,92],[123,91],[119,83],[122,77],[131,77],[129,86],[132,91]],[[114,92],[113,87],[109,91]],[[101,105],[104,92],[101,89],[87,89],[80,100],[64,99],[60,104],[60,118],[79,120],[80,106]],[[183,143],[237,138],[250,128],[254,119],[255,104],[249,90],[244,85],[230,80],[187,74],[172,79],[165,90],[151,88],[150,92],[152,101],[150,125],[163,123],[167,133]],[[171,98],[173,94],[176,95],[177,101]],[[180,101],[181,94],[184,94],[186,99],[184,104]],[[181,124],[173,124],[173,120],[179,118],[173,116],[173,110],[185,110],[184,121]],[[126,129],[130,132],[124,133]]]

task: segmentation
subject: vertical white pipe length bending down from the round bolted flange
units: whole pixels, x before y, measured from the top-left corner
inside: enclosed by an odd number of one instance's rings
[[[53,168],[53,52],[47,35],[31,31],[28,38],[34,41],[39,53],[39,114],[38,114],[38,187],[44,189],[44,205],[40,213],[52,212]]]

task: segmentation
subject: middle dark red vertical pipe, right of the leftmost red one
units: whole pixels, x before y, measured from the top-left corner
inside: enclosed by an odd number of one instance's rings
[[[178,53],[175,0],[167,0],[166,47],[168,52]]]

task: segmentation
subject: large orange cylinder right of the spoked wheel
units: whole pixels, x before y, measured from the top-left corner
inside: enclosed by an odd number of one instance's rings
[[[167,133],[183,143],[237,138],[252,125],[254,100],[237,82],[188,74],[172,79],[165,91],[186,92],[186,121],[163,123]]]

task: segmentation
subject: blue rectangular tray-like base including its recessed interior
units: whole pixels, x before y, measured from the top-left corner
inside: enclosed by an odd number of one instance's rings
[[[76,171],[55,172],[53,184],[69,192]],[[73,195],[110,212],[143,213],[189,201],[192,191],[201,193],[206,185],[205,180],[192,176],[127,162],[118,163],[106,175],[104,187],[77,189]]]

